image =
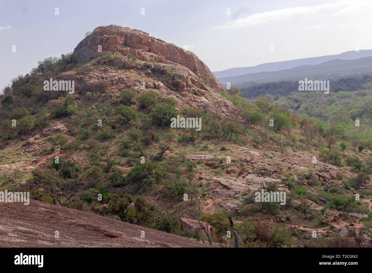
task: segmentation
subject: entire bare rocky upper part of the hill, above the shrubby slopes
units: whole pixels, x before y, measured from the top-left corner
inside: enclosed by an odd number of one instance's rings
[[[213,103],[218,103],[225,114],[234,108],[219,95],[225,88],[194,53],[141,30],[116,25],[97,27],[77,45],[74,54],[78,62],[89,62],[88,65],[78,73],[64,72],[55,79],[74,80],[78,94],[94,90],[99,81],[118,91],[141,90],[142,84],[143,90],[153,89],[174,97],[179,107],[190,105],[213,111]],[[114,97],[108,92],[105,98]]]

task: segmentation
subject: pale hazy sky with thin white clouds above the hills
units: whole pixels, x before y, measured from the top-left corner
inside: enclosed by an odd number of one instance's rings
[[[371,15],[372,0],[0,0],[0,89],[102,25],[187,45],[219,71],[372,49]]]

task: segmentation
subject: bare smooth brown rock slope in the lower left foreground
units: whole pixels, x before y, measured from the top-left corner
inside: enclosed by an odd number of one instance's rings
[[[141,231],[145,232],[144,238]],[[0,203],[0,247],[20,244],[22,247],[206,247],[178,235],[36,200],[27,206]]]

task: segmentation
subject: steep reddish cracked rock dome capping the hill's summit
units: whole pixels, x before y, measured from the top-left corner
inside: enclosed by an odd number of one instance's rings
[[[215,75],[194,53],[185,51],[172,43],[151,37],[147,32],[116,25],[99,26],[78,43],[74,53],[76,53],[79,61],[89,59],[97,53],[99,45],[102,46],[102,51],[114,49],[124,55],[131,53],[141,61],[154,59],[157,62],[162,62],[161,59],[163,59],[181,64],[189,68],[194,74],[201,75],[211,87],[221,91],[225,90]],[[200,88],[205,89],[203,86]]]

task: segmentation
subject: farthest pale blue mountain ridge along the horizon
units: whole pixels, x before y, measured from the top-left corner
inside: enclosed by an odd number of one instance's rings
[[[343,52],[343,53],[336,54],[336,55],[326,55],[326,56],[319,56],[319,57],[295,59],[295,60],[289,60],[289,61],[271,62],[271,63],[260,64],[260,65],[249,66],[249,67],[235,67],[235,68],[230,68],[230,69],[226,69],[222,71],[215,71],[213,73],[217,78],[234,77],[234,76],[245,75],[245,74],[250,74],[250,73],[279,71],[279,70],[294,68],[296,66],[301,66],[301,65],[317,65],[317,64],[322,64],[327,61],[334,60],[334,59],[353,60],[353,59],[360,59],[360,58],[371,57],[371,56],[372,56],[372,49],[360,50],[359,52],[347,51],[347,52]]]

